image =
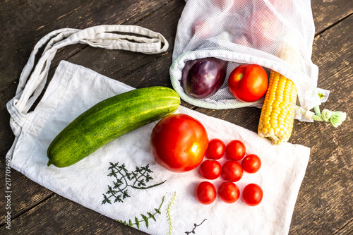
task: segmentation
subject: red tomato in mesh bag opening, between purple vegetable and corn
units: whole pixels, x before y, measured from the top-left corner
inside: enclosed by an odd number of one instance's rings
[[[244,102],[255,102],[265,95],[268,76],[257,64],[241,64],[230,73],[228,87],[232,95]]]

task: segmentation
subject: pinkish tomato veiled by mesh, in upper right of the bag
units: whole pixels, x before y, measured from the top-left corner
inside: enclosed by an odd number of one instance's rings
[[[249,18],[247,36],[256,47],[273,44],[281,34],[280,20],[269,9],[254,11]]]

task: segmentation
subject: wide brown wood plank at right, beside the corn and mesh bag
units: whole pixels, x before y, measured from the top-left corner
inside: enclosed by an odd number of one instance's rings
[[[318,86],[331,90],[322,106],[348,115],[353,110],[352,40],[342,32],[352,32],[352,20],[350,16],[323,32],[313,44],[313,61],[320,68]],[[347,206],[353,194],[351,123],[348,117],[338,128],[323,122],[294,125],[293,142],[311,147],[311,158],[290,234],[335,234],[352,219],[352,207]]]

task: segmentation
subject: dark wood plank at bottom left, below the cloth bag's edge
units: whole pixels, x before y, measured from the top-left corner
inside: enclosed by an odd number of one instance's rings
[[[13,234],[145,234],[57,194],[11,221]],[[3,226],[1,234],[7,234]]]

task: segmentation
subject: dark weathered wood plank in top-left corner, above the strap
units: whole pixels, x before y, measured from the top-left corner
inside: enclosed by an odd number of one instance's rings
[[[62,1],[35,0],[6,11],[0,25],[6,38],[0,44],[0,76],[8,82],[18,79],[32,48],[40,38],[59,28],[88,28],[103,24],[136,24],[166,3],[159,1]]]

